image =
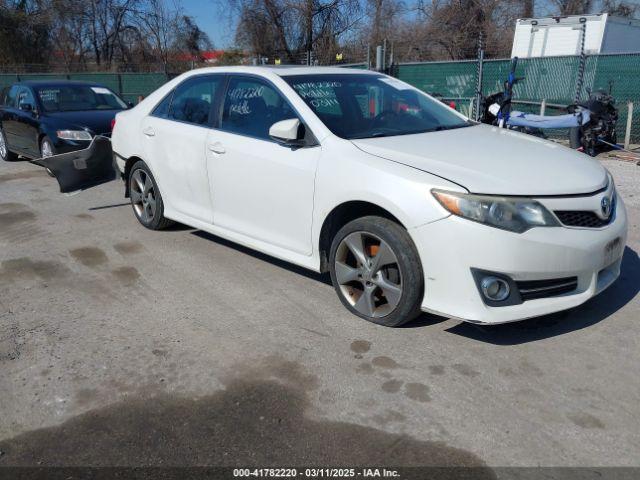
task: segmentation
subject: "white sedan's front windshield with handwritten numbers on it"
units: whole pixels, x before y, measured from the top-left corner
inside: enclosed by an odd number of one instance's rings
[[[390,137],[473,125],[419,90],[382,75],[294,75],[284,80],[337,136]]]

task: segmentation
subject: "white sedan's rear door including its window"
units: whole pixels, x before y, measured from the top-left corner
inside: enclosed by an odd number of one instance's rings
[[[169,210],[213,222],[206,141],[221,75],[192,77],[179,85],[142,124],[144,153]]]

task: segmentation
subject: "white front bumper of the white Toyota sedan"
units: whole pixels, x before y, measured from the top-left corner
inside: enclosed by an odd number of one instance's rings
[[[615,219],[604,229],[534,228],[512,233],[451,216],[413,229],[425,274],[422,309],[472,323],[499,324],[567,310],[611,286],[620,275],[627,213],[618,198]],[[619,248],[607,247],[620,239]],[[490,307],[472,269],[501,273],[516,282],[577,277],[575,291]]]

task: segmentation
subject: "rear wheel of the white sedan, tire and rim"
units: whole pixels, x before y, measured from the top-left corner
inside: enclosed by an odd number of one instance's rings
[[[144,227],[163,230],[174,223],[164,217],[162,195],[146,163],[139,161],[133,165],[128,182],[133,213]]]

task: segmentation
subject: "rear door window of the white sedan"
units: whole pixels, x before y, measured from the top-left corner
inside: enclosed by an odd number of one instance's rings
[[[194,125],[208,125],[222,77],[201,76],[187,80],[176,88],[169,118]]]

